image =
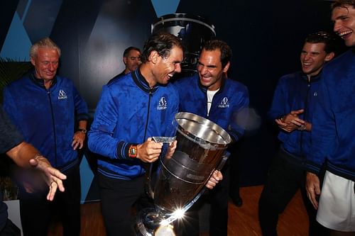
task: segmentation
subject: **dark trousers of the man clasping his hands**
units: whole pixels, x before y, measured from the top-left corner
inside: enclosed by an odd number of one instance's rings
[[[268,179],[259,199],[259,222],[264,236],[275,236],[277,233],[278,215],[283,213],[288,203],[298,189],[302,193],[302,200],[307,210],[310,228],[309,235],[327,235],[327,229],[322,227],[315,217],[317,210],[313,208],[307,198],[305,189],[305,172],[286,161],[290,157],[288,153],[280,150],[273,159],[268,172]]]

